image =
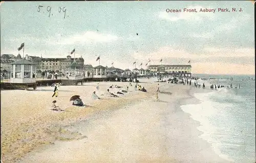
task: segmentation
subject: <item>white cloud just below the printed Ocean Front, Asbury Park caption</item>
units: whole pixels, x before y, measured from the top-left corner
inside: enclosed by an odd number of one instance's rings
[[[208,7],[209,8],[209,7]],[[204,18],[212,19],[214,18],[214,13],[212,12],[199,12],[200,9],[205,9],[202,6],[189,6],[186,9],[196,9],[197,12],[184,12],[183,8],[181,9],[182,12],[180,13],[173,13],[173,12],[160,12],[159,18],[169,20],[169,21],[178,21],[178,20],[187,20],[187,21],[200,21]]]

